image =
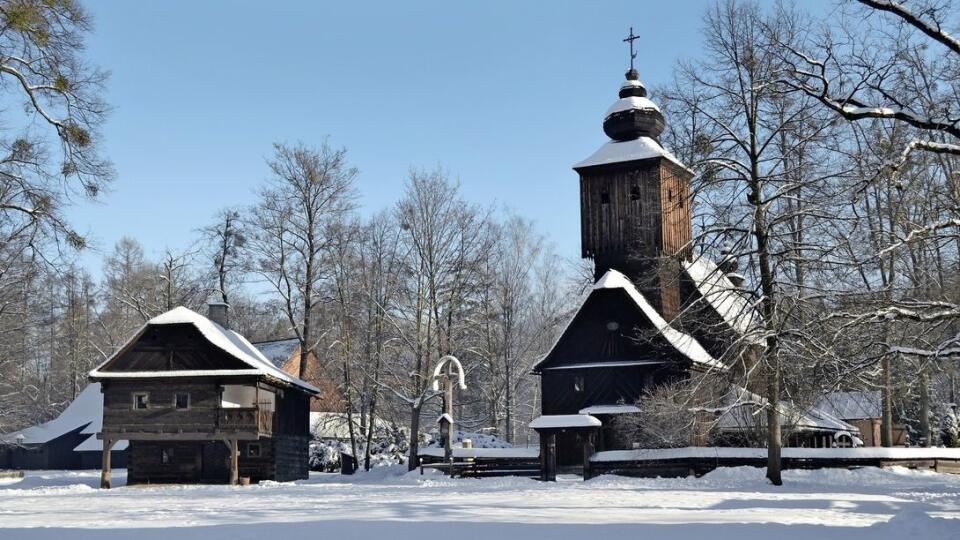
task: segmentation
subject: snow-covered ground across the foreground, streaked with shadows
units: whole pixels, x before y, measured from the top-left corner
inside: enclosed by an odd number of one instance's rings
[[[960,476],[905,469],[787,471],[780,488],[746,467],[549,484],[396,467],[248,487],[97,482],[96,471],[51,471],[0,484],[0,538],[960,538]]]

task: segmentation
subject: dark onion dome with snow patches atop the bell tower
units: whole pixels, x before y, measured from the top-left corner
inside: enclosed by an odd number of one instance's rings
[[[637,70],[631,69],[626,77],[620,87],[620,99],[607,109],[603,132],[615,141],[656,139],[663,133],[663,114],[647,99],[647,88],[640,82]]]

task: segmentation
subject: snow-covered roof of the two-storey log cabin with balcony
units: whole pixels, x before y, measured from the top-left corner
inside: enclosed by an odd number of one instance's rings
[[[127,348],[136,342],[140,336],[151,326],[165,326],[173,324],[191,324],[200,334],[206,338],[212,345],[221,349],[230,356],[240,360],[249,366],[249,369],[209,369],[209,370],[172,370],[172,371],[103,371],[103,368],[109,365]],[[233,330],[227,330],[210,319],[199,313],[185,308],[183,306],[175,307],[166,313],[157,315],[147,321],[130,338],[127,343],[117,350],[105,362],[90,371],[90,376],[95,379],[137,379],[142,377],[211,377],[224,375],[258,375],[272,377],[280,381],[292,384],[312,394],[320,393],[313,385],[301,381],[300,379],[289,375],[274,366],[270,360],[263,356],[256,347],[247,339]]]

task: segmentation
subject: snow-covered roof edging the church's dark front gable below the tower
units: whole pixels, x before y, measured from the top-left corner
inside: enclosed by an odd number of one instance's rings
[[[653,324],[657,332],[660,333],[660,335],[662,335],[667,340],[667,342],[670,343],[670,345],[677,350],[677,352],[687,357],[694,364],[700,365],[702,367],[719,369],[723,371],[726,371],[727,369],[729,369],[723,362],[720,362],[719,360],[711,356],[710,353],[708,353],[707,350],[704,349],[703,346],[700,345],[700,343],[696,339],[694,339],[692,336],[690,336],[689,334],[685,334],[677,330],[676,328],[670,326],[670,324],[666,320],[664,320],[664,318],[660,315],[660,313],[657,312],[657,310],[653,307],[653,305],[650,304],[650,302],[646,299],[646,297],[643,296],[643,293],[641,293],[637,289],[637,287],[633,284],[633,282],[630,281],[629,278],[627,278],[627,276],[621,274],[616,270],[607,270],[607,273],[605,273],[593,285],[594,291],[602,290],[602,289],[623,289],[624,292],[626,292],[627,295],[630,297],[630,299],[633,300],[634,304],[636,304],[637,307],[640,308],[640,311],[644,314],[644,316],[646,316],[646,318],[650,321],[650,323]],[[580,309],[583,309],[583,305],[586,304],[588,299],[589,297],[587,299],[584,299],[583,304],[580,305]],[[577,311],[579,312],[579,309]],[[553,345],[550,347],[550,351],[553,351],[553,349],[557,347],[557,344],[560,343],[560,340],[563,338],[563,335],[567,333],[567,330],[570,328],[570,325],[573,323],[573,321],[576,318],[577,318],[577,314],[575,313],[573,317],[570,319],[570,321],[567,322],[566,328],[564,328],[563,331],[560,332],[560,334],[557,336],[556,341],[554,341]],[[539,362],[533,365],[532,369],[534,371],[540,369],[540,366],[549,356],[550,354],[548,353],[543,358],[541,358]],[[646,363],[659,363],[660,361],[659,360],[655,360],[655,361],[639,360],[636,362],[638,363],[635,364],[634,361],[628,361],[628,363],[588,362],[588,363],[582,363],[582,364],[574,364],[572,366],[569,366],[569,368],[574,369],[574,368],[585,368],[585,367],[611,367],[611,366],[616,366],[618,364],[644,365]]]

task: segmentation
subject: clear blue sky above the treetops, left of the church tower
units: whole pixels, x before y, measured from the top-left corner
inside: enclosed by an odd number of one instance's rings
[[[361,212],[392,205],[411,166],[534,219],[579,255],[570,166],[606,137],[630,26],[648,86],[695,56],[708,0],[673,2],[131,2],[88,0],[88,57],[112,73],[118,173],[73,223],[109,251],[186,247],[253,202],[273,141],[345,146]],[[652,96],[654,100],[656,96]],[[101,254],[84,256],[99,273]]]

